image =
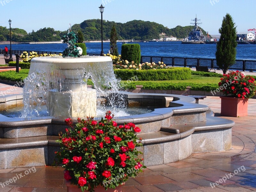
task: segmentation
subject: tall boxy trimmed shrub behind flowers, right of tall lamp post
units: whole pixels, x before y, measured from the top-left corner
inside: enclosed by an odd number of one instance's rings
[[[140,63],[140,44],[123,44],[121,55],[123,60]]]

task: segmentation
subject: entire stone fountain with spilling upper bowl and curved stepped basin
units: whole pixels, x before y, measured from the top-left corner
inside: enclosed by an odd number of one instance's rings
[[[8,96],[1,104],[13,105],[23,100],[24,116],[0,114],[0,169],[53,163],[54,151],[59,149],[55,140],[67,128],[65,117],[95,114],[96,91],[88,89],[84,81],[89,76],[97,92],[112,88],[100,101],[113,105],[120,100],[117,95],[122,95],[122,103],[128,106],[155,106],[149,113],[115,116],[117,124],[132,122],[140,127],[138,137],[143,138],[143,147],[138,150],[143,152],[140,157],[146,166],[175,162],[191,153],[231,148],[234,122],[214,117],[207,106],[196,104],[192,97],[117,93],[118,81],[110,57],[35,58],[30,70],[35,78],[26,82],[23,97]],[[37,116],[42,108],[47,108],[48,116]]]

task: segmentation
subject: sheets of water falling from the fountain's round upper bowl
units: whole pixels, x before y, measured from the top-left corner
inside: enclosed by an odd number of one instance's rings
[[[92,79],[94,88],[97,90],[97,97],[101,98],[97,103],[97,115],[102,116],[102,112],[105,113],[109,106],[117,107],[114,109],[114,113],[120,113],[118,116],[129,115],[121,112],[124,110],[119,110],[120,107],[125,107],[125,99],[118,91],[120,80],[115,78],[112,61],[97,61],[95,59],[95,62],[83,63],[79,59],[99,57],[69,58],[70,61],[75,60],[75,62],[69,63],[68,67],[63,69],[59,63],[56,65],[56,63],[45,62],[46,58],[53,61],[60,60],[60,63],[65,60],[62,57],[43,57],[42,62],[39,63],[33,63],[32,60],[28,76],[34,74],[34,78],[27,81],[23,88],[24,109],[21,117],[51,116],[52,101],[49,99],[49,92],[59,92],[60,94],[74,91],[83,92],[82,87],[86,86],[88,78]],[[40,60],[40,58],[37,59]],[[106,100],[108,105],[101,105],[102,99]],[[63,103],[58,103],[58,100],[55,103],[57,106],[63,105]],[[77,105],[79,104],[77,103]]]

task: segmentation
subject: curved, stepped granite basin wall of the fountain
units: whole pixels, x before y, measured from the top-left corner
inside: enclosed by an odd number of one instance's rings
[[[191,153],[224,151],[231,148],[231,120],[214,117],[208,106],[194,98],[172,94],[123,92],[129,103],[155,103],[153,112],[115,117],[118,124],[132,122],[140,127],[143,138],[140,156],[146,166],[184,159]],[[168,108],[166,101],[172,98]],[[168,102],[167,102],[168,104]],[[52,164],[55,140],[67,125],[64,118],[8,118],[0,115],[0,169]],[[95,118],[100,120],[100,118]],[[2,139],[1,139],[2,138]],[[34,154],[29,156],[26,154]],[[20,157],[27,162],[20,162]]]

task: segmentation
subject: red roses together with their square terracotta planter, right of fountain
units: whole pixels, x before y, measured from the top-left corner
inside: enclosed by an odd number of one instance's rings
[[[220,79],[220,90],[226,96],[221,96],[221,112],[223,116],[247,116],[248,99],[256,92],[256,84],[252,76],[244,76],[241,71],[231,71],[223,74]]]

